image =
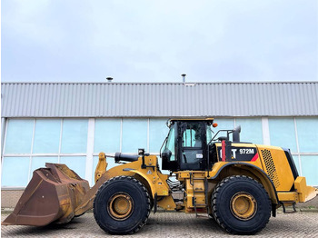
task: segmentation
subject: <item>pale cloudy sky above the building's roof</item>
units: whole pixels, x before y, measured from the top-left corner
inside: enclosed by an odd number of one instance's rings
[[[2,0],[3,82],[317,81],[317,0]]]

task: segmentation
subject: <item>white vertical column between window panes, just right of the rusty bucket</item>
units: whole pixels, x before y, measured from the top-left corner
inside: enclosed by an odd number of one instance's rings
[[[86,165],[85,165],[85,180],[93,186],[93,154],[94,154],[94,118],[88,119],[88,133],[87,133],[87,149],[86,149]]]

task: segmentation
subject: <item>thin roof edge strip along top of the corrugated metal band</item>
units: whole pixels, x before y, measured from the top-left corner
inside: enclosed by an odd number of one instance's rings
[[[318,81],[246,81],[246,82],[1,82],[1,84],[318,84]]]

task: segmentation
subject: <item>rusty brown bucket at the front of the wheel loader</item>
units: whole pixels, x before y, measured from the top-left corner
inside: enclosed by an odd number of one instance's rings
[[[65,164],[46,163],[45,166],[35,170],[14,212],[3,225],[68,223],[75,216],[75,208],[89,190],[88,182]]]

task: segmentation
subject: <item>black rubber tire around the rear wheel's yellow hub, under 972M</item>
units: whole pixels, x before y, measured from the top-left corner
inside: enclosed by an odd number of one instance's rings
[[[231,211],[231,199],[236,193],[250,193],[253,195],[257,210],[250,220],[240,220]],[[263,229],[270,217],[270,201],[268,194],[260,183],[251,178],[234,177],[230,182],[221,186],[216,199],[216,213],[224,229],[230,228],[232,233],[252,234]]]

